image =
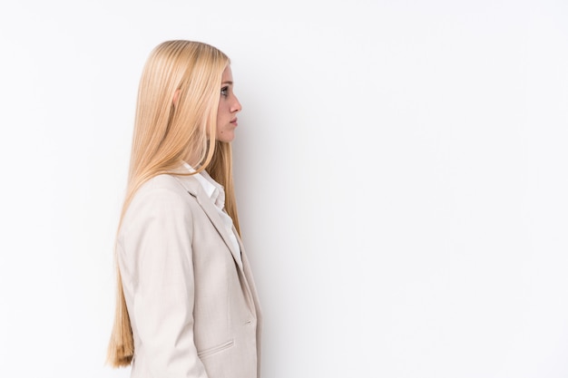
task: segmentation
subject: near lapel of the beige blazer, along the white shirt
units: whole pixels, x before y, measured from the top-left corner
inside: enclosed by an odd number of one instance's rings
[[[225,229],[225,225],[223,224],[223,220],[220,218],[220,215],[218,213],[218,209],[215,207],[215,204],[211,202],[211,199],[209,198],[207,193],[205,193],[205,191],[201,188],[200,182],[192,176],[174,175],[173,177],[178,179],[178,181],[180,181],[181,183],[181,186],[185,188],[188,193],[191,194],[191,196],[197,199],[197,203],[199,203],[205,214],[207,214],[207,217],[210,218],[211,223],[217,229],[217,232],[219,232],[227,247],[229,247],[230,254],[242,271],[243,267],[241,262],[242,258],[240,258],[240,251],[235,250],[235,248],[233,247],[233,244],[230,241],[230,236]],[[240,238],[237,237],[237,240],[239,240],[240,245]]]

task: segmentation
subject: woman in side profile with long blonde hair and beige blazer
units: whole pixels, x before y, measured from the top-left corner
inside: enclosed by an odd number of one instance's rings
[[[132,377],[260,376],[260,307],[230,141],[240,102],[209,44],[159,44],[138,92],[108,359]]]

